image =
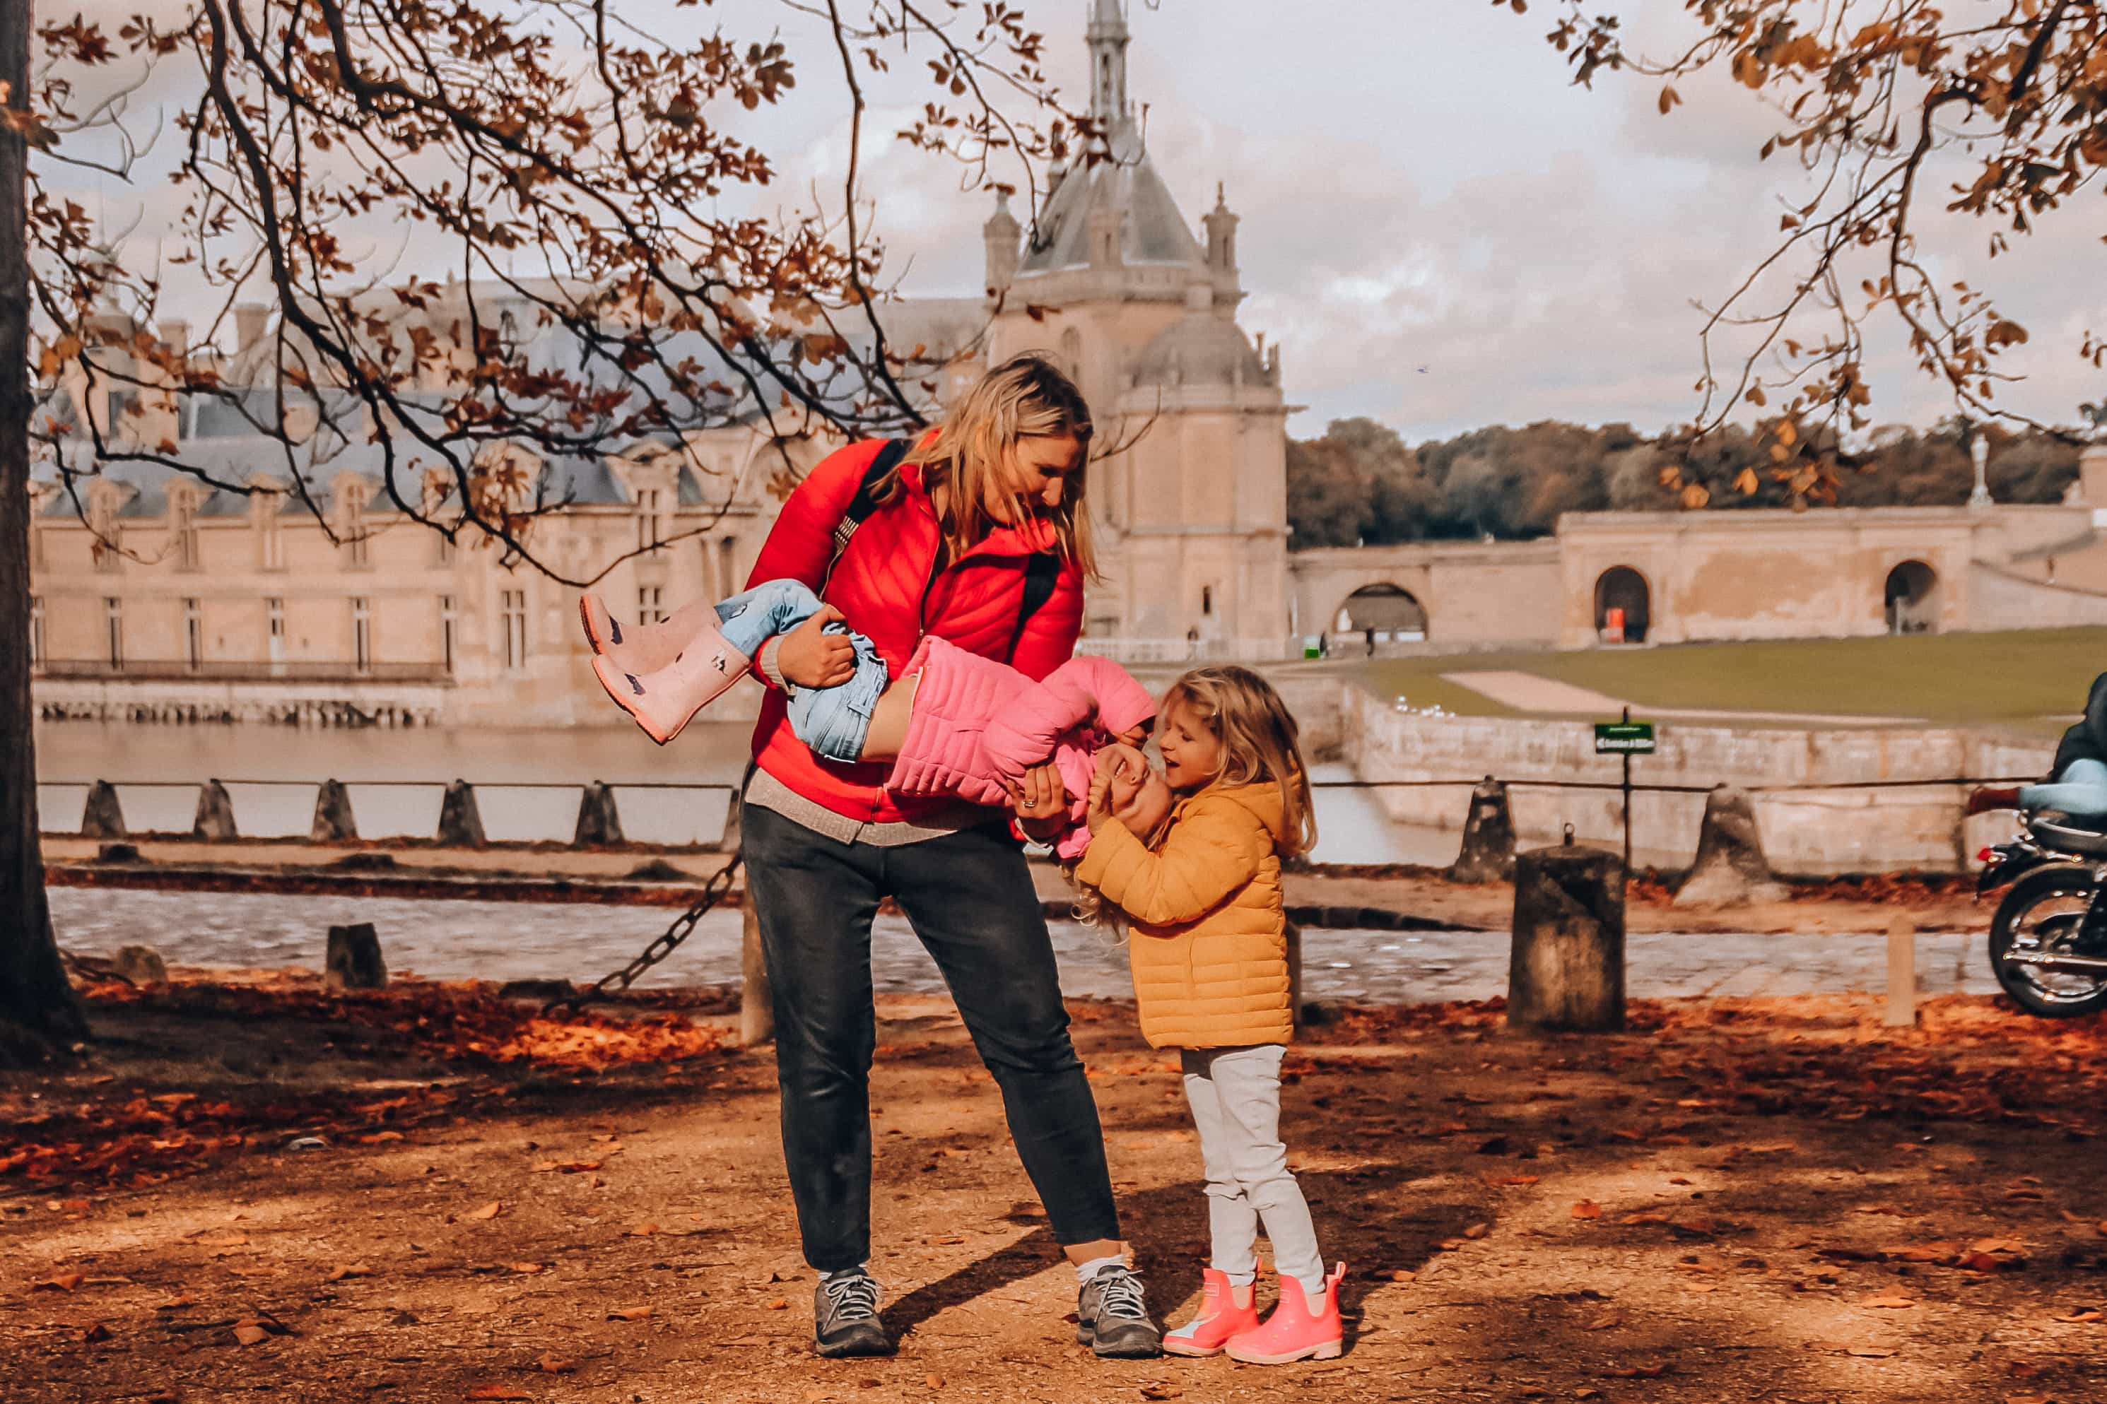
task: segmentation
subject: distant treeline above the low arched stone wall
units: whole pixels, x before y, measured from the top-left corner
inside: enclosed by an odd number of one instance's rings
[[[2078,446],[2048,434],[1989,429],[1989,488],[2002,503],[2054,503],[2078,478]],[[1681,457],[1681,480],[1711,490],[1707,512],[1789,507],[1772,480],[1770,438],[1728,427]],[[1839,507],[1953,507],[1968,501],[1974,463],[1966,427],[1890,427],[1850,455]],[[1292,545],[1542,537],[1561,512],[1677,512],[1660,486],[1671,459],[1631,425],[1599,429],[1540,421],[1405,444],[1374,419],[1334,419],[1323,438],[1287,442]],[[1753,495],[1734,488],[1755,469]]]

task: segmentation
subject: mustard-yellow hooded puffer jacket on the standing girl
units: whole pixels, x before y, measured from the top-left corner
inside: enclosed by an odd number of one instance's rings
[[[1075,876],[1134,924],[1127,954],[1150,1046],[1289,1040],[1285,808],[1279,785],[1209,785],[1171,808],[1157,850],[1117,819],[1089,840]]]

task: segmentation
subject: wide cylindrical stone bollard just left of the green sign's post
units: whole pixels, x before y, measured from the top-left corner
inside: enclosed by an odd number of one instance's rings
[[[1624,1027],[1624,865],[1614,853],[1568,840],[1515,859],[1507,1027],[1547,1034]]]

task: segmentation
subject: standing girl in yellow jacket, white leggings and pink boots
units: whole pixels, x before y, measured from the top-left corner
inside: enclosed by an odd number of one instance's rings
[[[1323,1269],[1317,1229],[1281,1145],[1287,1008],[1287,914],[1281,857],[1317,842],[1296,720],[1247,667],[1199,667],[1163,695],[1157,726],[1169,817],[1134,751],[1100,754],[1089,791],[1089,850],[1077,882],[1125,914],[1142,1036],[1178,1048],[1207,1170],[1214,1263],[1199,1320],[1163,1349],[1247,1364],[1340,1353],[1340,1263]],[[1142,768],[1138,768],[1142,766]],[[1279,1307],[1254,1303],[1258,1225],[1273,1240]]]

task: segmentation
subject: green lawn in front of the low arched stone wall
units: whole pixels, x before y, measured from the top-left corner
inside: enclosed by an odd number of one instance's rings
[[[1635,707],[1896,716],[2048,735],[2084,707],[2092,678],[2107,671],[2107,629],[1473,653],[1374,659],[1363,669],[1384,697],[1464,716],[1511,709],[1441,674],[1538,674]]]

